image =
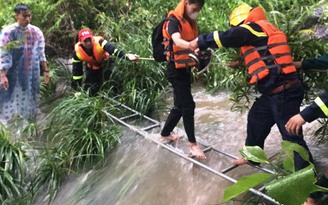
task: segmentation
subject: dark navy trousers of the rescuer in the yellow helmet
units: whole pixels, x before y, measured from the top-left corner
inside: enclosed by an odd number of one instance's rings
[[[271,127],[277,124],[283,140],[297,143],[309,151],[304,141],[303,134],[290,135],[285,128],[287,121],[299,113],[303,100],[304,90],[301,84],[277,94],[263,94],[256,99],[249,111],[247,119],[246,146],[259,146],[263,149],[264,141],[271,131]],[[308,162],[294,153],[295,169],[300,170],[308,166]],[[309,151],[310,160],[313,161]]]

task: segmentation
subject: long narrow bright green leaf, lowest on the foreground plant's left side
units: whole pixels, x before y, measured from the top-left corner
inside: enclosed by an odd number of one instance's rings
[[[228,187],[224,191],[224,196],[223,196],[223,202],[227,202],[236,196],[238,196],[241,193],[244,193],[250,188],[253,188],[256,185],[259,185],[268,179],[274,178],[277,175],[275,174],[253,174],[251,176],[245,176],[242,177],[237,181],[236,184],[233,184],[232,186]]]

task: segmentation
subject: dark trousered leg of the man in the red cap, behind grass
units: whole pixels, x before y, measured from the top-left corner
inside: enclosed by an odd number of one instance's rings
[[[91,96],[95,96],[100,89],[102,83],[103,70],[93,70],[91,68],[86,68],[85,81],[83,89],[89,91]]]

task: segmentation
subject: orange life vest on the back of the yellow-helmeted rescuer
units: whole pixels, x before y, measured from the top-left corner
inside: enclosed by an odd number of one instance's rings
[[[269,75],[270,69],[278,69],[278,73],[283,74],[296,72],[286,35],[266,20],[255,23],[267,34],[268,43],[260,47],[241,47],[242,58],[248,69],[249,83],[255,84],[265,78]],[[265,51],[267,55],[263,55]]]

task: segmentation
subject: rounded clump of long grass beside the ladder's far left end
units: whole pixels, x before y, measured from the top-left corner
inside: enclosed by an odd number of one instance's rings
[[[49,115],[48,137],[58,152],[67,153],[68,168],[80,169],[103,160],[119,141],[120,132],[104,111],[114,111],[99,97],[81,92],[69,96]]]

